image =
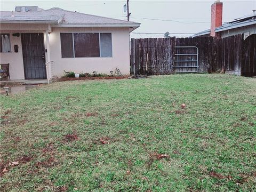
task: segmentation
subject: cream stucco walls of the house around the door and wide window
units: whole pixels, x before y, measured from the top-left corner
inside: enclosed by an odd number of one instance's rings
[[[21,30],[18,30],[18,28]],[[8,29],[8,30],[7,30]],[[13,37],[13,33],[44,33],[45,49],[47,25],[1,25],[1,33],[9,33],[11,40],[11,53],[0,53],[1,63],[10,63],[11,79],[24,79],[23,57],[21,37]],[[74,71],[76,73],[98,73],[109,74],[110,70],[115,68],[121,70],[122,74],[130,74],[130,39],[129,28],[71,28],[71,27],[52,27],[49,36],[50,56],[53,61],[54,75],[62,76],[63,70]],[[60,33],[65,32],[94,32],[112,34],[112,53],[111,58],[61,58]],[[14,52],[14,45],[19,46],[19,52]],[[47,61],[47,54],[46,61]]]

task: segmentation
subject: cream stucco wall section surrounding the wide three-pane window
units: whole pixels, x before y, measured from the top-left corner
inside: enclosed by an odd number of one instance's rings
[[[61,58],[60,33],[87,32],[87,33],[111,33],[112,54],[111,58]],[[129,28],[52,28],[50,35],[50,53],[53,61],[54,75],[62,76],[63,70],[75,73],[110,74],[109,71],[121,70],[122,74],[130,74],[130,39]]]

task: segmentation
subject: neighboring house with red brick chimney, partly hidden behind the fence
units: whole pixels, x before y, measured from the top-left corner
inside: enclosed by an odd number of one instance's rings
[[[211,28],[201,31],[192,37],[212,36],[225,38],[237,34],[243,34],[244,39],[252,34],[256,34],[255,10],[253,10],[253,14],[222,24],[222,2],[215,1],[211,6]]]

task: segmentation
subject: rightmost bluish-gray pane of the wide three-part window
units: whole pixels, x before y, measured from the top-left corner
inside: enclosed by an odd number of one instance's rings
[[[111,33],[100,34],[100,57],[112,57]]]

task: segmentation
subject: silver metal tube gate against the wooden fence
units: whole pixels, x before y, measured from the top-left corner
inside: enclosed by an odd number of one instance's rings
[[[197,73],[198,48],[175,46],[174,73]]]

